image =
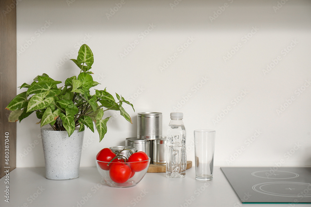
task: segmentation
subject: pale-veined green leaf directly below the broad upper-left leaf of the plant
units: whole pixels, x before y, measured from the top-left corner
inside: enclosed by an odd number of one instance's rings
[[[48,93],[49,92],[43,92],[43,93],[38,93],[38,94],[33,95],[29,99],[29,103],[27,106],[27,112],[44,109],[47,106],[49,106],[53,101],[53,97],[45,98],[48,95]]]

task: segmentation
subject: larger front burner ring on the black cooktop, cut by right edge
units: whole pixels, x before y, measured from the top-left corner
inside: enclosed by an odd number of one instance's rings
[[[259,193],[283,197],[311,197],[311,184],[303,182],[264,182],[253,186]]]

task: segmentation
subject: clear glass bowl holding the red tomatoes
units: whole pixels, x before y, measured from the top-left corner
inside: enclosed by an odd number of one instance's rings
[[[104,179],[104,181],[110,187],[132,187],[136,186],[137,183],[139,183],[145,176],[150,164],[150,160],[151,159],[149,157],[148,160],[139,162],[122,162],[122,163],[112,162],[108,165],[109,170],[105,170],[107,169],[107,164],[109,162],[96,160],[96,167],[98,172]],[[130,178],[128,178],[129,169],[131,173]],[[134,169],[136,172],[134,172],[132,169]],[[120,172],[125,173],[121,174]]]

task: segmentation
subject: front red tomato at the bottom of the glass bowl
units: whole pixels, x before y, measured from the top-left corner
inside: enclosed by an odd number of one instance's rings
[[[127,164],[116,162],[110,166],[109,176],[116,183],[126,182],[131,175],[132,170]]]

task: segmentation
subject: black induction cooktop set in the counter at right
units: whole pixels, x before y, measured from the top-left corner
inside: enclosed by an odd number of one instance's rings
[[[311,167],[221,167],[242,203],[311,203]]]

